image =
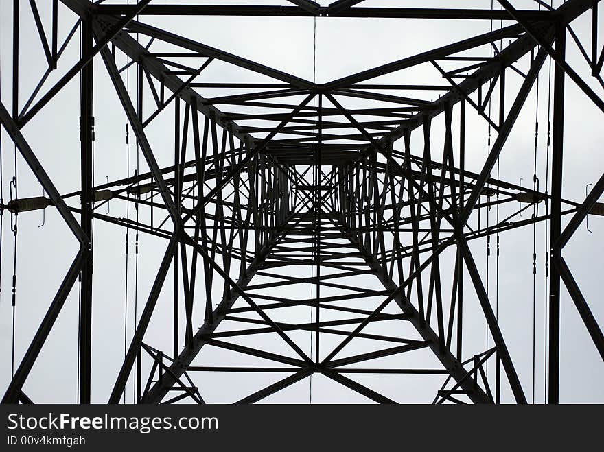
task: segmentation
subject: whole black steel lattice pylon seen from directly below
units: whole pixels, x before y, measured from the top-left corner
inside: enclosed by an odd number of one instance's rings
[[[286,6],[175,5],[161,0],[141,0],[136,5],[127,5],[124,0],[124,4],[104,5],[100,1],[61,0],[80,19],[65,43],[60,45],[57,38],[58,1],[52,2],[51,34],[48,36],[41,25],[36,1],[31,0],[27,6],[34,14],[48,69],[30,100],[21,105],[18,102],[19,71],[23,71],[27,63],[22,55],[19,64],[19,14],[23,14],[19,10],[23,10],[25,2],[14,1],[12,112],[0,105],[0,121],[45,189],[49,203],[58,209],[80,243],[80,250],[51,300],[3,402],[31,403],[23,392],[23,384],[78,276],[81,278],[80,402],[90,402],[94,302],[92,225],[93,221],[101,221],[167,241],[152,289],[137,320],[136,332],[115,378],[109,403],[121,400],[130,378],[135,379],[136,401],[140,403],[173,403],[181,399],[204,403],[204,388],[194,385],[189,378],[191,372],[286,374],[277,383],[246,396],[239,403],[259,401],[313,372],[320,372],[378,403],[393,401],[346,375],[443,374],[446,380],[435,394],[435,403],[498,403],[501,381],[505,379],[515,401],[526,403],[468,242],[536,222],[550,223],[548,381],[549,401],[557,403],[560,281],[566,285],[585,328],[604,358],[601,329],[561,253],[588,213],[602,213],[598,200],[604,191],[604,176],[594,184],[583,203],[561,198],[565,79],[570,78],[604,111],[601,97],[565,59],[567,29],[574,19],[588,12],[596,24],[599,1],[569,0],[557,9],[535,1],[534,10],[516,10],[507,0],[498,2],[501,9],[477,10],[365,8],[359,0],[338,0],[328,6],[310,0],[291,0],[291,5]],[[539,4],[541,8],[537,10]],[[316,84],[148,25],[144,21],[147,14],[493,19],[511,21],[508,23],[512,25],[332,82]],[[137,16],[139,20],[135,20]],[[82,59],[44,95],[38,96],[78,27],[82,36]],[[134,38],[134,34],[141,39]],[[571,35],[582,49],[592,76],[604,86],[600,77],[604,51],[598,47],[596,25],[592,27],[591,54],[585,51],[574,33]],[[157,47],[161,50],[154,50]],[[167,48],[172,50],[165,51]],[[487,56],[485,49],[493,49],[492,56]],[[124,82],[128,66],[117,66],[118,54],[130,58],[128,65],[138,71],[138,100],[132,100]],[[526,56],[530,57],[528,69],[521,70],[517,62]],[[548,57],[555,61],[551,193],[533,191],[491,176]],[[93,61],[94,64],[102,61],[110,75],[149,168],[147,173],[99,186],[93,185],[92,172]],[[213,62],[254,73],[251,80],[260,80],[260,76],[268,81],[198,82],[198,76]],[[373,78],[426,63],[432,64],[442,76],[443,84],[371,82]],[[24,139],[21,130],[78,74],[82,95],[82,189],[63,195],[40,165],[35,150]],[[520,88],[506,85],[510,74],[521,78]],[[210,88],[213,93],[231,90],[231,94],[216,97],[200,94]],[[232,94],[235,89],[240,92]],[[436,100],[402,97],[386,94],[388,90],[423,92],[432,97],[437,93],[439,97]],[[145,105],[145,108],[143,91],[154,99],[154,104]],[[497,94],[498,108],[491,117],[486,107],[491,96]],[[506,98],[513,99],[511,105],[505,105]],[[370,100],[374,106],[348,106],[354,99]],[[174,110],[174,165],[160,167],[148,141],[147,130],[154,126],[159,115],[172,114],[168,112],[171,108]],[[467,108],[476,110],[497,132],[479,174],[465,169]],[[443,149],[443,160],[435,161],[431,157],[434,139],[431,139],[430,125],[440,115],[445,122],[443,143],[438,144]],[[458,123],[455,126],[454,121]],[[420,134],[423,138],[420,139],[423,154],[419,156],[410,150],[414,130],[414,137]],[[453,130],[458,130],[459,134],[454,134]],[[187,158],[186,150],[191,149],[187,143],[191,141],[194,157]],[[81,200],[78,206],[67,205],[66,202],[78,198]],[[138,222],[113,217],[99,209],[108,200],[136,204],[137,209],[148,211],[150,215],[146,218],[141,214]],[[470,217],[481,208],[523,202],[522,209],[526,209],[526,206],[542,201],[549,206],[545,215],[520,219],[515,214],[489,226],[469,225]],[[26,204],[27,200],[12,200],[11,204],[2,207],[18,213],[28,210]],[[80,215],[79,221],[74,214]],[[561,228],[562,215],[570,216],[564,229]],[[440,269],[443,252],[448,249],[455,250],[456,254],[451,294],[443,293]],[[171,266],[174,268],[174,347],[173,350],[156,350],[146,344],[145,335]],[[293,276],[293,269],[299,266],[314,267],[314,275],[307,278]],[[198,274],[202,277],[196,278]],[[383,289],[338,283],[340,278],[360,274],[375,276]],[[464,274],[471,278],[494,341],[492,348],[473,357],[462,355]],[[272,279],[268,283],[255,283],[257,275]],[[429,281],[427,294],[424,293],[426,279]],[[293,299],[287,289],[299,283],[316,285],[314,296]],[[212,289],[217,285],[222,298],[213,300]],[[263,290],[275,287],[282,288],[283,295],[263,293]],[[341,294],[326,296],[321,294],[323,288],[329,288],[330,294],[335,290],[340,290]],[[184,294],[183,307],[180,306],[181,293]],[[342,304],[342,301],[362,298],[379,300],[377,309]],[[246,307],[234,307],[237,300],[244,300]],[[215,306],[216,301],[218,305]],[[391,302],[399,308],[398,313],[385,312]],[[271,317],[275,311],[291,306],[313,307],[316,318],[312,322],[291,324]],[[178,328],[181,309],[186,318],[185,331]],[[205,322],[196,330],[193,313],[200,310],[205,312]],[[323,320],[322,314],[326,311],[329,320]],[[255,313],[255,317],[246,315],[250,313]],[[335,314],[341,314],[342,318],[332,320]],[[367,332],[368,325],[382,321],[408,322],[417,331],[418,338]],[[223,322],[231,322],[237,327],[217,331]],[[339,329],[342,326],[352,327]],[[294,331],[314,333],[314,356],[305,353],[292,338]],[[295,357],[244,346],[237,341],[229,342],[229,339],[251,335],[283,341]],[[321,339],[326,335],[340,337],[341,341],[335,348],[321,348]],[[382,347],[370,353],[338,357],[349,342],[358,338],[379,341]],[[194,359],[207,346],[264,358],[281,367],[194,364]],[[358,363],[370,365],[372,359],[419,348],[430,349],[441,368],[347,367]],[[151,358],[150,369],[142,368],[141,355]],[[493,360],[497,372],[494,388],[485,377],[483,366],[488,359]]]

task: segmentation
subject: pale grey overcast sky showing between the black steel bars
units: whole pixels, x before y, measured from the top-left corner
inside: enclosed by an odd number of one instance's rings
[[[40,12],[43,20],[48,23],[49,5],[40,1]],[[50,2],[48,2],[50,3]],[[110,2],[107,2],[110,3]],[[116,2],[111,2],[116,3]],[[183,2],[179,2],[183,3]],[[189,2],[191,3],[191,2]],[[212,2],[218,3],[218,2]],[[231,2],[224,2],[231,3]],[[239,2],[238,2],[239,3]],[[246,1],[241,3],[252,4]],[[459,8],[476,7],[489,8],[489,0],[476,1],[430,1],[422,2],[422,6],[453,5]],[[560,2],[556,1],[555,5]],[[285,4],[271,1],[265,4]],[[412,1],[367,1],[367,6],[413,6]],[[517,8],[528,7],[531,1],[515,1]],[[73,23],[75,15],[61,7],[59,15],[60,39],[64,38]],[[21,22],[21,106],[36,85],[45,70],[45,58],[35,34],[34,22],[27,2],[22,2]],[[11,36],[12,36],[12,5],[11,2],[0,2],[0,76],[1,100],[5,106],[10,106],[11,88]],[[589,42],[589,14],[572,23],[572,26],[583,40]],[[145,16],[141,21],[164,27],[170,31],[182,34],[187,38],[217,47],[224,51],[235,53],[256,62],[281,69],[299,77],[312,80],[313,77],[313,30],[314,21],[309,18],[245,18],[245,17],[192,17],[176,19],[172,17]],[[601,25],[601,24],[600,24]],[[499,23],[493,24],[498,27]],[[440,47],[456,40],[462,40],[473,34],[489,31],[488,21],[429,21],[401,19],[316,19],[316,81],[327,82],[350,73],[356,73],[386,62],[391,62],[411,56],[421,51]],[[602,27],[600,27],[602,28]],[[427,32],[429,30],[429,32]],[[568,36],[568,60],[570,64],[585,78],[589,79],[588,67],[582,60],[577,47]],[[141,43],[146,43],[141,38]],[[153,47],[158,50],[161,46]],[[488,52],[487,49],[484,52]],[[79,39],[76,34],[72,43],[62,56],[58,71],[51,75],[45,91],[60,75],[79,57]],[[118,54],[118,66],[125,62],[123,54]],[[119,100],[111,81],[108,79],[100,58],[95,58],[95,183],[100,184],[108,177],[109,180],[132,175],[136,168],[137,150],[130,141],[129,149],[125,144],[126,116],[121,110]],[[399,71],[375,82],[384,83],[424,83],[434,82],[445,84],[431,67],[414,68]],[[518,62],[520,69],[528,68],[528,60]],[[130,73],[130,86],[135,86],[135,71]],[[537,174],[540,188],[544,189],[546,180],[546,121],[548,93],[548,62],[544,65],[539,78],[539,148],[537,156]],[[256,82],[261,80],[257,75],[248,71],[233,68],[227,64],[211,64],[200,80],[208,82]],[[507,84],[509,99],[520,86],[520,77],[509,73]],[[590,86],[601,94],[601,88],[588,80]],[[599,91],[597,91],[599,90]],[[208,97],[215,95],[211,91],[203,92]],[[227,93],[223,93],[226,95]],[[397,93],[399,94],[399,93]],[[132,99],[135,99],[132,90]],[[39,98],[39,96],[38,96]],[[150,100],[146,104],[150,105]],[[497,100],[493,101],[493,109],[498,108]],[[533,178],[533,139],[535,123],[536,90],[526,102],[518,122],[504,147],[500,158],[500,178],[522,185],[531,183]],[[352,104],[351,104],[352,105]],[[357,102],[356,106],[362,106]],[[570,81],[566,84],[566,122],[565,122],[565,160],[564,160],[564,198],[581,201],[585,198],[585,185],[595,182],[604,171],[604,158],[601,154],[603,135],[601,131],[601,112],[591,104],[589,99]],[[9,108],[10,109],[10,108]],[[148,128],[148,137],[161,166],[170,165],[173,160],[172,108],[156,119],[154,126]],[[495,110],[496,111],[496,110]],[[78,78],[72,80],[60,94],[56,96],[36,117],[27,124],[23,133],[28,142],[43,163],[60,193],[78,190],[80,184],[78,141],[79,117],[79,85]],[[457,136],[458,108],[454,110],[454,136]],[[433,159],[439,160],[442,152],[443,117],[434,119],[432,123]],[[479,171],[487,155],[487,125],[470,108],[467,110],[467,167]],[[493,132],[493,139],[496,134]],[[456,143],[456,141],[455,141]],[[13,173],[14,160],[12,157],[12,142],[2,131],[3,156],[3,191],[5,202],[9,198],[8,182]],[[412,152],[421,155],[423,143],[421,131],[414,132]],[[395,148],[402,149],[402,143],[396,143]],[[187,150],[192,156],[192,146]],[[454,152],[458,152],[457,147]],[[457,154],[456,154],[457,155]],[[130,172],[127,170],[127,156],[130,157]],[[146,171],[146,165],[140,158],[140,171]],[[21,158],[19,162],[19,197],[40,195],[42,189],[36,182],[31,171]],[[70,205],[76,205],[75,198]],[[126,216],[125,204],[118,201],[110,203],[110,214],[116,217]],[[539,212],[543,213],[543,206]],[[102,210],[101,210],[102,211]],[[500,215],[507,211],[501,209]],[[529,215],[530,211],[523,215]],[[130,215],[134,215],[130,209]],[[141,210],[141,215],[143,215]],[[146,214],[145,214],[146,215]],[[483,212],[483,215],[485,213]],[[495,209],[489,213],[491,221],[495,219]],[[484,220],[484,217],[483,217]],[[19,216],[19,247],[17,262],[17,297],[16,297],[16,363],[19,362],[27,344],[29,344],[40,320],[56,292],[56,288],[65,275],[75,252],[77,243],[53,208],[46,209],[45,226],[38,228],[42,222],[40,211],[23,213]],[[476,219],[470,220],[476,224]],[[168,228],[170,226],[167,226]],[[585,298],[590,303],[594,316],[602,324],[604,322],[604,307],[601,303],[599,278],[602,274],[602,254],[604,220],[594,215],[590,216],[590,228],[593,234],[587,232],[585,225],[577,231],[567,248],[564,250],[565,259],[573,271]],[[10,381],[11,355],[11,319],[10,291],[12,278],[12,234],[10,232],[10,215],[4,216],[3,224],[3,254],[1,261],[1,298],[0,298],[0,386],[5,388]],[[125,256],[123,228],[95,222],[95,270],[93,294],[93,401],[106,401],[113,387],[115,377],[121,365],[124,353],[124,292],[125,292]],[[130,231],[130,256],[128,271],[128,307],[126,328],[127,340],[130,340],[134,329],[135,304],[135,256],[134,233]],[[536,228],[537,237],[537,294],[535,316],[535,402],[542,403],[544,396],[544,255],[545,236],[544,224]],[[165,250],[166,242],[148,235],[139,236],[139,271],[137,287],[137,304],[140,313],[146,295],[149,292],[152,278]],[[500,235],[500,261],[498,284],[498,313],[500,326],[509,346],[509,350],[520,376],[524,392],[532,401],[533,391],[533,228],[521,228]],[[491,241],[494,250],[494,238]],[[486,276],[486,245],[484,239],[472,241],[472,250],[483,278]],[[452,257],[448,252],[441,261],[444,288],[443,293],[450,293],[452,280]],[[489,294],[493,306],[496,303],[496,259],[494,252],[489,259]],[[199,273],[198,283],[201,284],[202,273]],[[295,276],[310,276],[309,267],[297,267]],[[171,353],[172,350],[172,272],[170,271],[165,287],[160,296],[150,329],[145,342]],[[262,282],[262,277],[254,282]],[[268,280],[266,280],[268,281]],[[379,281],[367,275],[351,282],[361,287],[379,287]],[[199,286],[201,287],[201,286]],[[300,285],[292,298],[307,297],[311,294],[310,285]],[[299,293],[298,293],[299,291]],[[199,294],[202,290],[198,291]],[[216,291],[218,300],[218,292]],[[277,294],[278,292],[273,292]],[[473,287],[469,277],[465,277],[465,322],[464,322],[464,353],[470,357],[486,348],[485,322],[480,313]],[[281,292],[281,295],[283,293]],[[289,296],[290,294],[288,294]],[[604,390],[601,381],[604,379],[604,364],[599,358],[595,346],[585,331],[572,300],[562,290],[561,300],[561,401],[563,402],[604,402]],[[202,324],[203,301],[196,300],[199,309],[194,318],[196,326]],[[353,306],[364,303],[366,309],[375,308],[379,300],[363,300]],[[243,306],[240,300],[235,306]],[[181,309],[181,312],[183,309]],[[391,311],[393,308],[391,307]],[[271,313],[272,316],[273,313]],[[326,316],[329,314],[325,314]],[[54,329],[43,348],[38,362],[29,379],[25,383],[25,393],[36,402],[75,401],[75,382],[77,377],[77,339],[78,339],[78,293],[74,289],[63,308]],[[288,309],[281,314],[275,312],[275,320],[289,322],[306,322],[310,320],[310,308],[302,307]],[[322,312],[323,316],[323,312]],[[373,325],[369,332],[415,337],[410,325],[402,322],[383,322]],[[181,318],[184,325],[184,319]],[[232,324],[231,324],[232,326]],[[226,324],[221,326],[226,329]],[[181,327],[181,331],[183,328]],[[415,335],[414,335],[415,333]],[[310,350],[309,333],[292,333],[304,350]],[[282,341],[272,335],[247,339],[246,344],[259,346],[275,353],[290,355]],[[323,337],[322,337],[323,341]],[[233,342],[237,342],[233,340]],[[240,342],[244,343],[244,342]],[[329,339],[325,337],[325,346]],[[334,345],[336,342],[334,342]],[[492,340],[489,339],[489,346]],[[375,349],[375,344],[353,342],[346,348],[342,356],[364,353]],[[203,365],[233,365],[252,366],[262,361],[218,348],[206,347],[197,357],[195,364]],[[146,379],[149,362],[145,361],[143,379]],[[432,367],[438,368],[439,362],[430,350],[417,350],[395,357],[375,360],[366,367]],[[490,365],[489,365],[490,366]],[[363,375],[352,376],[378,392],[382,392],[397,401],[422,402],[432,401],[435,391],[443,383],[444,376],[389,376]],[[200,392],[209,402],[231,402],[242,396],[258,390],[272,381],[283,378],[281,374],[198,374],[196,384]],[[489,379],[494,381],[494,372],[489,368]],[[290,388],[268,397],[266,402],[295,402],[308,403],[310,381],[305,379]],[[132,381],[128,385],[128,401],[132,396]],[[502,401],[512,401],[507,382],[502,388]],[[313,403],[366,403],[360,394],[356,394],[321,375],[312,377]]]

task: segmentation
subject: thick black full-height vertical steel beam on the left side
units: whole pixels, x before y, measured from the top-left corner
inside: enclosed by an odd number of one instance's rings
[[[82,21],[82,58],[87,58],[93,49],[92,19]],[[92,226],[93,226],[93,62],[86,64],[80,82],[80,171],[82,181],[80,224],[89,237],[82,243],[86,262],[82,267],[80,298],[80,403],[90,403],[91,396],[91,349],[92,349]],[[87,249],[86,249],[87,248]],[[87,252],[87,254],[86,254]]]

